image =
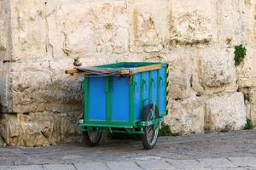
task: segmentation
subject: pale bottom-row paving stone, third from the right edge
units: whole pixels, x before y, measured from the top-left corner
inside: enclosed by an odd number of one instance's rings
[[[202,167],[201,163],[196,160],[167,160],[174,167]]]

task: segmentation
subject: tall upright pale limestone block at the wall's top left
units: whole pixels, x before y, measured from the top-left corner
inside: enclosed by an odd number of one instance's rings
[[[10,1],[12,60],[46,56],[44,0]]]

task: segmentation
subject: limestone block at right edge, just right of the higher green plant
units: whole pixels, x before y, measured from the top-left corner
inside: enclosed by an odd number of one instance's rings
[[[237,83],[239,88],[256,86],[256,49],[247,46],[247,55],[239,66],[237,66]]]

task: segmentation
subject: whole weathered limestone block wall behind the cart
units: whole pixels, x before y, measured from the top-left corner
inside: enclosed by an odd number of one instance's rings
[[[0,136],[11,145],[78,141],[82,88],[64,70],[170,64],[166,123],[183,134],[256,124],[255,0],[0,0]],[[247,56],[234,65],[234,47]]]

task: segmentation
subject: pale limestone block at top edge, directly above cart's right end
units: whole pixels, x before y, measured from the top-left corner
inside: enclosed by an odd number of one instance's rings
[[[158,52],[164,48],[168,35],[169,4],[167,0],[129,1],[132,52]]]

